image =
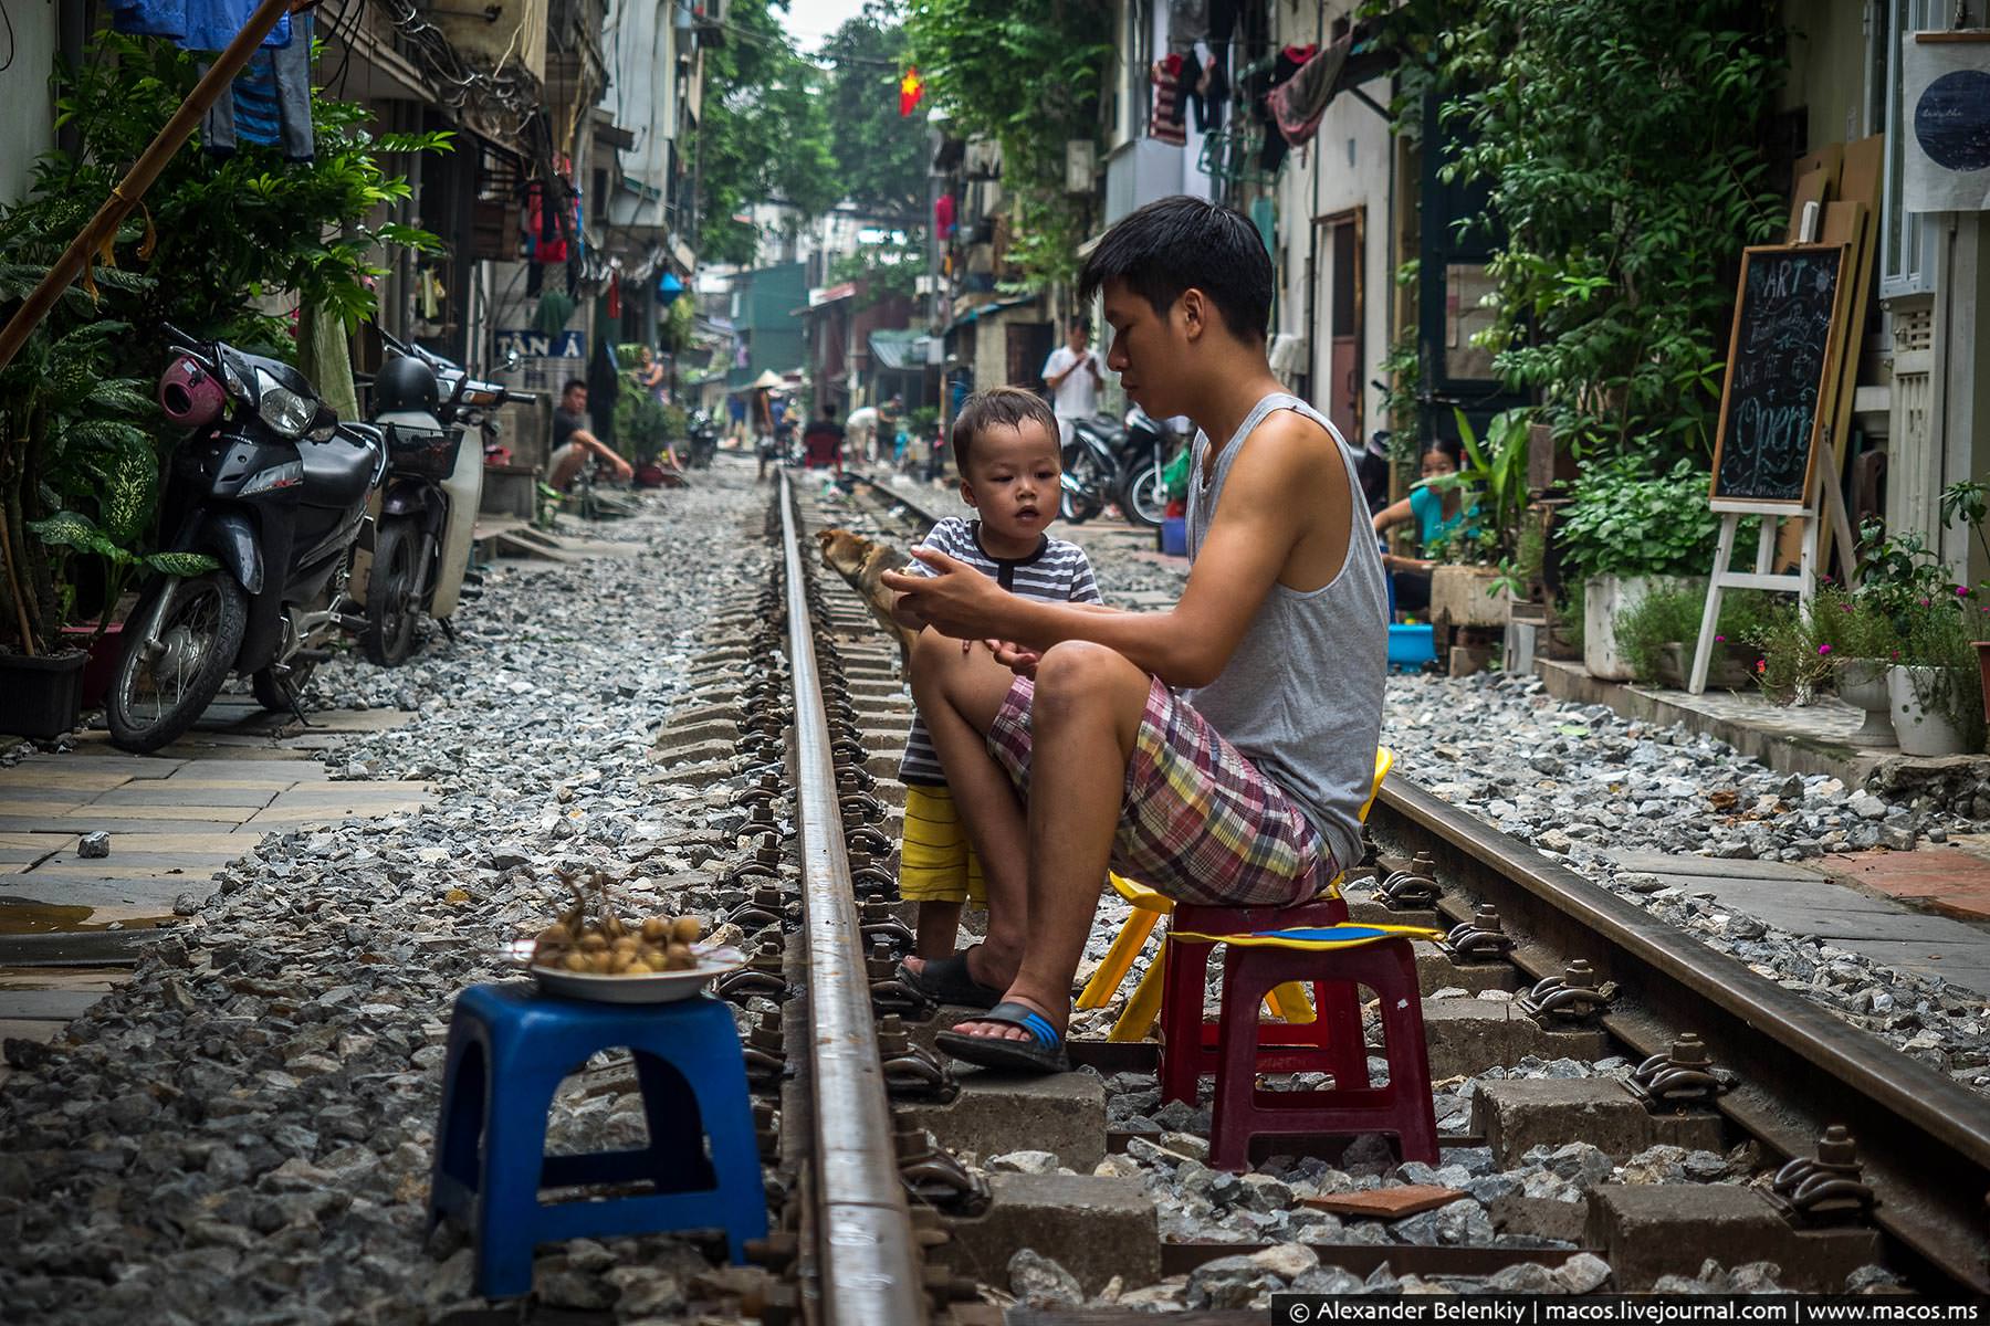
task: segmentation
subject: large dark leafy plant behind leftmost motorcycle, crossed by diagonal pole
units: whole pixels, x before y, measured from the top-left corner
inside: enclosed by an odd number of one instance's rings
[[[58,123],[78,149],[46,153],[32,191],[0,209],[0,312],[34,288],[201,76],[171,42],[109,30],[92,42],[90,64],[58,72]],[[179,151],[0,372],[0,561],[12,571],[0,577],[0,642],[40,652],[56,638],[76,600],[70,571],[103,569],[107,614],[131,575],[177,565],[147,553],[177,433],[151,384],[131,376],[161,364],[163,322],[295,358],[289,316],[275,310],[332,308],[350,326],[374,308],[382,247],[440,247],[378,217],[410,197],[384,161],[444,149],[450,135],[374,137],[368,117],[314,93],[310,163],[253,145],[227,159]]]

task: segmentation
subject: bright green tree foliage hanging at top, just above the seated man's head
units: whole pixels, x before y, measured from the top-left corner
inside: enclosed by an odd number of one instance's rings
[[[909,0],[905,10],[947,131],[1001,143],[1009,258],[1035,288],[1077,274],[1091,203],[1065,193],[1065,143],[1098,135],[1110,14],[1085,0]]]

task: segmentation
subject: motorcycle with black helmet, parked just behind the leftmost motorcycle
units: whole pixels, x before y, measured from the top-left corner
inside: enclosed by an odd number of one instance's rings
[[[448,630],[470,567],[470,541],[484,501],[484,445],[470,429],[496,431],[484,414],[535,400],[498,382],[478,382],[460,364],[380,330],[394,358],[372,380],[372,421],[386,437],[388,479],[366,584],[360,648],[384,668],[408,662],[422,614]]]

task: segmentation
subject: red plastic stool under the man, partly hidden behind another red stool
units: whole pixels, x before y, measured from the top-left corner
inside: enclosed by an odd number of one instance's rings
[[[1347,899],[1319,895],[1295,907],[1200,907],[1178,903],[1162,940],[1168,966],[1160,994],[1160,1099],[1196,1103],[1204,1074],[1218,1070],[1222,1026],[1204,1020],[1204,984],[1214,940],[1184,934],[1252,934],[1292,926],[1331,926],[1347,920]],[[1303,980],[1313,980],[1309,972]],[[1278,982],[1274,982],[1278,984]],[[1266,986],[1270,990],[1272,986]],[[1226,996],[1228,1006],[1228,996]],[[1335,1083],[1367,1085],[1367,1046],[1353,986],[1313,982],[1313,1022],[1268,1022],[1258,1038],[1260,1074],[1333,1074]],[[1274,1040],[1276,1038],[1276,1040]]]

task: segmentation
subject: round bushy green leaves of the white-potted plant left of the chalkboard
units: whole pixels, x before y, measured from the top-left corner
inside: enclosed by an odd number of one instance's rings
[[[1578,575],[1703,575],[1719,521],[1707,509],[1707,471],[1678,461],[1652,475],[1638,457],[1590,463],[1556,523],[1562,557]]]

